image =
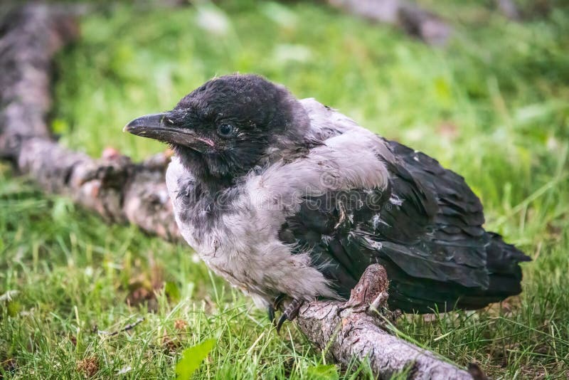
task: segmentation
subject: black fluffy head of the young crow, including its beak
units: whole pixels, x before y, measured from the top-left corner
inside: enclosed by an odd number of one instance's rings
[[[309,127],[302,105],[258,75],[209,80],[174,110],[138,117],[124,131],[166,142],[204,181],[228,183],[264,157],[300,147]]]

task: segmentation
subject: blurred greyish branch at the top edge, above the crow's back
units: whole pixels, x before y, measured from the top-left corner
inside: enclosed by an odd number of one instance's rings
[[[452,28],[439,16],[406,0],[327,0],[334,8],[343,9],[376,23],[403,28],[412,36],[431,45],[444,45]]]

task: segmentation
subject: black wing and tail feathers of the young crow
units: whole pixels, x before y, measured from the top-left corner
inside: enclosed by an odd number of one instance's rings
[[[484,213],[462,176],[426,154],[385,140],[388,189],[330,191],[307,197],[280,231],[349,297],[363,270],[380,263],[390,278],[390,307],[431,312],[475,309],[518,294],[529,260],[484,231]]]

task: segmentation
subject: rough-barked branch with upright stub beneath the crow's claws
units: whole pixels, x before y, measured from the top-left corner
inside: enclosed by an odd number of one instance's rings
[[[388,283],[385,269],[370,265],[348,302],[311,302],[301,308],[298,325],[334,361],[368,360],[381,379],[405,370],[411,379],[473,379],[467,371],[378,327],[377,310],[387,301]]]

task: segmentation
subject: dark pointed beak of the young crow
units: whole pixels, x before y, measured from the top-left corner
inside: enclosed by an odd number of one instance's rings
[[[213,147],[214,144],[211,139],[199,137],[191,128],[177,127],[171,120],[171,112],[144,115],[125,125],[122,132],[129,132],[161,142],[183,145],[196,150],[203,150],[204,147]]]

